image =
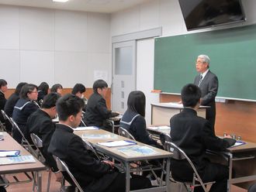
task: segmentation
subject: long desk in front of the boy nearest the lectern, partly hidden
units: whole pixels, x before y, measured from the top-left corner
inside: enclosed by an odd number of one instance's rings
[[[170,134],[170,129],[152,130],[147,128],[154,135],[159,135],[161,132]],[[157,138],[157,136],[156,136]],[[217,155],[217,156],[216,156]],[[220,158],[223,156],[226,161]],[[229,167],[229,179],[227,180],[227,191],[230,191],[230,185],[235,184],[239,187],[247,189],[256,180],[256,143],[246,142],[245,145],[231,147],[223,152],[209,151],[209,158],[216,163],[224,163]],[[232,177],[233,170],[235,177]],[[250,183],[251,182],[251,183]]]

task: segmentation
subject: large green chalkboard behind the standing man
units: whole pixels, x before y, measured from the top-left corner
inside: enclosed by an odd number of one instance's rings
[[[256,100],[256,25],[155,39],[154,89],[180,93],[193,83],[199,54],[210,57],[219,97]]]

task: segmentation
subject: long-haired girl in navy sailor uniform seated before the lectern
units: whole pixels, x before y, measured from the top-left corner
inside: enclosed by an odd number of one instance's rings
[[[120,127],[127,129],[138,142],[161,148],[157,141],[150,138],[145,121],[146,98],[142,91],[130,92],[127,100],[127,110],[120,121]]]

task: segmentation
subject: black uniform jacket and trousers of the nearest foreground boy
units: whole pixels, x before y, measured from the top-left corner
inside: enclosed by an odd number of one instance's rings
[[[118,175],[108,164],[88,153],[82,139],[74,135],[73,129],[67,125],[56,125],[48,152],[67,163],[71,173],[86,191],[105,191]]]

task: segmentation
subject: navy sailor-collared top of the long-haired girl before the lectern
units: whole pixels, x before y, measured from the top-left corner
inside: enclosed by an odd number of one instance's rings
[[[151,139],[147,132],[145,118],[136,112],[127,110],[120,121],[120,127],[127,129],[138,142],[157,146],[157,141]]]

